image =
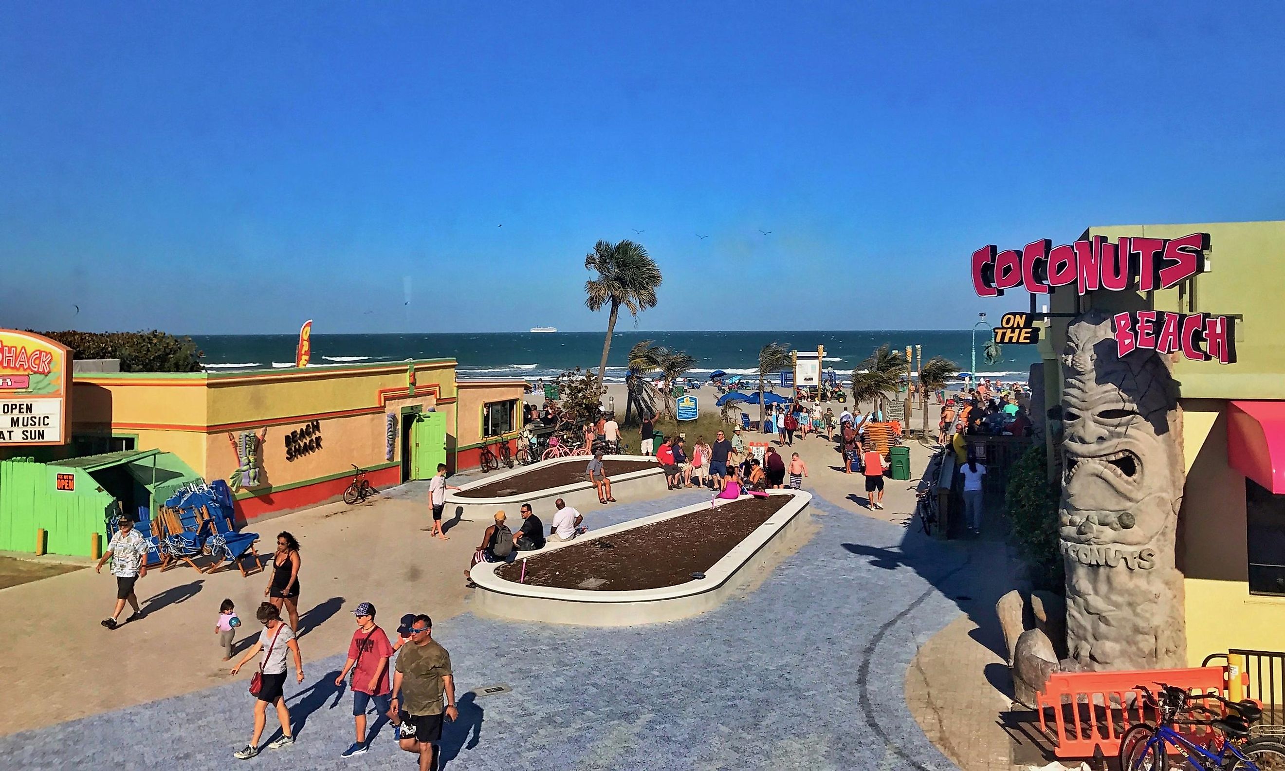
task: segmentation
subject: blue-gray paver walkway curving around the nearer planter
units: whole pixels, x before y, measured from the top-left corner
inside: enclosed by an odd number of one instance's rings
[[[587,524],[703,496],[621,505]],[[910,716],[903,681],[916,648],[959,614],[934,583],[959,580],[966,551],[914,537],[902,545],[903,528],[821,499],[812,513],[810,544],[749,596],[696,618],[616,630],[469,613],[439,623],[460,693],[513,687],[460,699],[445,768],[953,768]],[[383,622],[432,608],[432,598],[384,608]],[[341,664],[306,660],[308,681],[287,686],[298,743],[247,767],[414,767],[389,727],[368,754],[338,757],[352,734],[351,696],[332,685]],[[111,663],[96,673],[111,677]],[[251,727],[247,680],[0,738],[0,757],[13,768],[235,767],[231,752]],[[23,698],[40,708],[39,696]]]

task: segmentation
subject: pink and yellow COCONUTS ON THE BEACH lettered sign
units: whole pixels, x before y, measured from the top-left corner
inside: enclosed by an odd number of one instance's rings
[[[1019,287],[1032,294],[1074,287],[1081,296],[1097,290],[1172,289],[1207,270],[1208,251],[1208,233],[1173,239],[1123,236],[1114,243],[1095,235],[1058,247],[1045,238],[1020,251],[1002,252],[987,245],[973,252],[973,289],[978,297],[1002,297],[1006,289]],[[1171,311],[1130,311],[1112,319],[1121,356],[1144,348],[1219,364],[1236,361],[1234,323],[1231,316]],[[1037,339],[1038,330],[1029,326],[1025,314],[1005,314],[995,329],[997,343]]]

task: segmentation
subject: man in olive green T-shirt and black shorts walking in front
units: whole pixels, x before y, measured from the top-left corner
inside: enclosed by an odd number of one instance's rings
[[[393,676],[393,713],[401,717],[398,745],[419,754],[419,771],[436,771],[443,713],[451,722],[460,716],[451,654],[433,640],[433,621],[424,614],[411,623],[410,642],[401,646]]]

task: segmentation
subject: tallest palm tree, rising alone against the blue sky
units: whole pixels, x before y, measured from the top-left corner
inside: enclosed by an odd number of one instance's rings
[[[610,243],[600,240],[585,256],[585,269],[598,271],[596,279],[585,281],[585,305],[596,311],[612,306],[607,320],[607,339],[603,342],[603,361],[598,368],[598,387],[603,387],[607,373],[607,355],[612,350],[612,333],[621,306],[637,320],[640,311],[655,307],[655,289],[660,285],[660,269],[648,256],[641,244],[631,240]]]

